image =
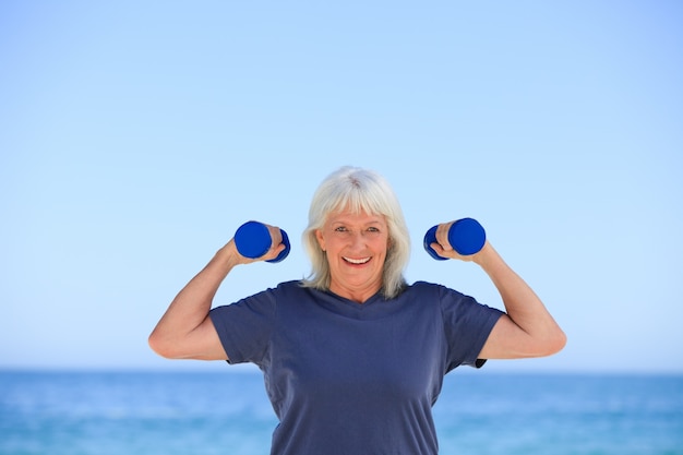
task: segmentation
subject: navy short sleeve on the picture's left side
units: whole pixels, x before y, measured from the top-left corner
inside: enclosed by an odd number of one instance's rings
[[[268,289],[211,310],[208,315],[228,355],[228,362],[262,362],[269,346],[275,306],[275,295]]]

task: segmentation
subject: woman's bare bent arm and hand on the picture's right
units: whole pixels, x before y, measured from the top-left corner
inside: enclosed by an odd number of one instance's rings
[[[441,225],[432,243],[439,254],[472,261],[489,275],[499,290],[506,314],[498,321],[481,350],[481,359],[519,359],[550,356],[562,350],[566,336],[536,292],[517,275],[487,241],[477,254],[462,256],[447,244],[451,224]],[[445,238],[444,238],[445,236]]]

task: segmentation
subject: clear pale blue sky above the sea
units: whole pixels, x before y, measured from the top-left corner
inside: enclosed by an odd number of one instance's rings
[[[501,307],[421,247],[472,216],[568,335],[492,370],[683,372],[683,7],[675,1],[0,3],[0,368],[221,368],[146,338],[244,220],[310,272],[342,165],[403,202],[409,282]]]

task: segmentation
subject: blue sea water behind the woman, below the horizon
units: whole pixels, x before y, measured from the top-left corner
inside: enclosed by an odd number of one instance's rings
[[[683,376],[456,370],[434,418],[443,455],[683,454]],[[0,371],[1,455],[263,455],[275,424],[256,372]]]

